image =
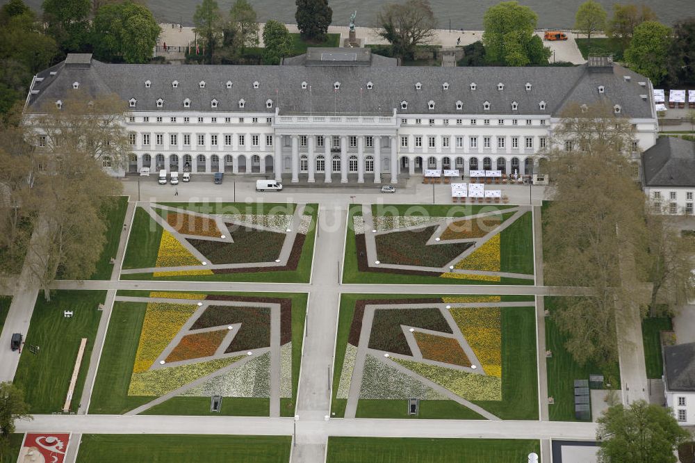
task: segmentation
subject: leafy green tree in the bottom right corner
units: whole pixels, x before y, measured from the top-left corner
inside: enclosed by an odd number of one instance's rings
[[[596,432],[601,462],[676,463],[673,450],[690,437],[671,409],[644,400],[630,407],[609,407],[598,419]]]

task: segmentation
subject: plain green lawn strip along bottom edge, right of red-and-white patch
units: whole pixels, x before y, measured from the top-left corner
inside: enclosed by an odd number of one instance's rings
[[[83,434],[79,463],[278,463],[290,458],[290,436]]]

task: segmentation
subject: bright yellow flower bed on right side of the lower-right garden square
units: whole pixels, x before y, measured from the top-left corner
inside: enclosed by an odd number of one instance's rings
[[[502,377],[502,311],[499,307],[459,307],[451,309],[482,369]]]

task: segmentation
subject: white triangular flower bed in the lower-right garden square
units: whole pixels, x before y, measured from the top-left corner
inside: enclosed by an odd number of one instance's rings
[[[409,399],[448,400],[440,393],[416,380],[411,375],[401,373],[384,364],[373,355],[364,359],[362,384],[359,389],[361,399]]]

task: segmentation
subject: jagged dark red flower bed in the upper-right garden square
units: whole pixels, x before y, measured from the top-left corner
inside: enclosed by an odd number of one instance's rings
[[[377,259],[382,263],[443,267],[472,243],[427,245],[436,226],[375,236]],[[499,260],[499,259],[498,259]]]

